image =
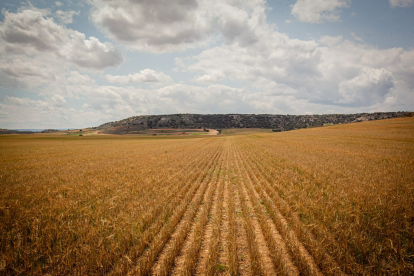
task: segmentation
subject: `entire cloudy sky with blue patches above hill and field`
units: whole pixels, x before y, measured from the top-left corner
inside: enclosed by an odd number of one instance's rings
[[[0,128],[414,110],[414,0],[2,0],[0,9]]]

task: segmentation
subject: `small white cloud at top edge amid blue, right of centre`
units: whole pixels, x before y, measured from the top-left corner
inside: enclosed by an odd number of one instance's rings
[[[297,0],[292,15],[303,22],[321,23],[323,20],[338,21],[340,9],[349,7],[351,0]]]

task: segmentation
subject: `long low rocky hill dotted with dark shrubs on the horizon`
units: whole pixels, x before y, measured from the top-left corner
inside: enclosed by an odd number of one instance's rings
[[[409,112],[377,112],[329,115],[270,115],[270,114],[171,114],[133,116],[100,125],[96,129],[106,133],[131,133],[151,128],[268,128],[286,131],[324,124],[382,120],[409,116]]]

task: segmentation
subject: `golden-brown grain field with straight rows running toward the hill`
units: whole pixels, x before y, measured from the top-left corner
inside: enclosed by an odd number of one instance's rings
[[[414,118],[0,136],[0,275],[413,273]]]

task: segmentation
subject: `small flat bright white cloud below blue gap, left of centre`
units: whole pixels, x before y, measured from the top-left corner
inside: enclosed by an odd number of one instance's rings
[[[113,76],[106,75],[106,79],[111,83],[142,83],[142,82],[152,82],[152,83],[168,83],[172,82],[172,78],[163,72],[157,72],[151,69],[141,70],[139,73],[128,74],[123,76]]]

